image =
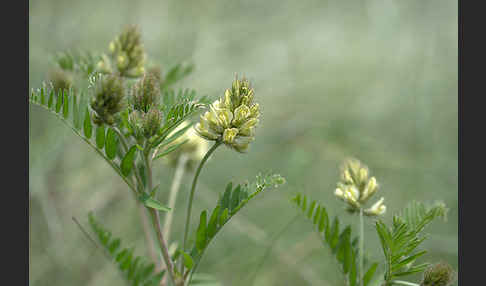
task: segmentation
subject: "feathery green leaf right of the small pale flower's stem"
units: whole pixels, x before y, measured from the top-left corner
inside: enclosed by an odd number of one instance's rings
[[[441,202],[430,206],[411,202],[400,214],[393,216],[391,227],[381,220],[376,222],[385,255],[385,285],[391,285],[397,277],[421,273],[429,266],[428,263],[414,265],[417,258],[427,253],[426,250],[417,251],[417,247],[427,238],[422,234],[424,228],[435,218],[445,218],[446,211]]]

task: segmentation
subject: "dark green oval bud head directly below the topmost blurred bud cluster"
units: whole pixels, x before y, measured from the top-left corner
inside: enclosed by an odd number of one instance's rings
[[[95,111],[93,121],[95,124],[112,125],[115,116],[124,106],[125,88],[123,80],[115,75],[107,75],[97,81],[91,108]]]

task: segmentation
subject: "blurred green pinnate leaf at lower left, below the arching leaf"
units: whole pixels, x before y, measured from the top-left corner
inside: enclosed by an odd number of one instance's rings
[[[160,285],[165,270],[156,272],[155,265],[141,256],[135,256],[133,248],[123,248],[120,238],[112,237],[111,232],[96,221],[92,213],[88,214],[88,219],[91,229],[105,248],[107,256],[118,265],[118,268],[130,285]]]

